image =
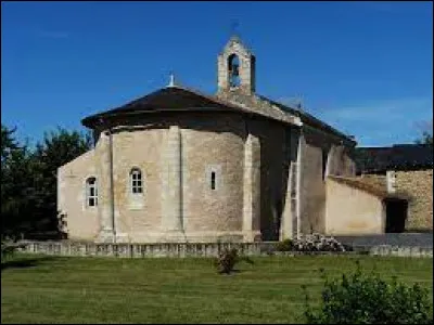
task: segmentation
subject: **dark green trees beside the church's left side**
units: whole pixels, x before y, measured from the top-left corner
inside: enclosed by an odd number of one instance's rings
[[[89,133],[58,128],[30,150],[15,139],[15,129],[1,126],[2,237],[59,235],[58,168],[91,148]]]

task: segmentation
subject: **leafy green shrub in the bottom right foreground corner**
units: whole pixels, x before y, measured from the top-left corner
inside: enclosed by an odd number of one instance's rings
[[[319,308],[311,308],[307,291],[305,296],[304,316],[309,324],[433,323],[426,289],[398,283],[396,277],[387,283],[378,274],[362,274],[359,264],[355,273],[343,274],[341,280],[326,277]]]

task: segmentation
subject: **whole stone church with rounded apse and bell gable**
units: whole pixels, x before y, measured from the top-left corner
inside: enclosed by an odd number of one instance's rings
[[[58,171],[68,238],[254,242],[383,232],[383,198],[365,191],[371,196],[363,200],[355,194],[363,188],[342,181],[356,173],[355,140],[260,95],[256,57],[239,37],[218,54],[217,82],[215,94],[204,94],[171,79],[82,119],[94,148]]]

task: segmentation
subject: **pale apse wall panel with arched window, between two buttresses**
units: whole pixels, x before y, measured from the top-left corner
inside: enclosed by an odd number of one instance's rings
[[[158,232],[162,223],[162,169],[167,129],[113,134],[114,211],[119,237],[136,239]],[[143,193],[132,194],[129,172],[142,172]],[[102,180],[108,182],[107,178]],[[151,238],[146,238],[151,239]]]

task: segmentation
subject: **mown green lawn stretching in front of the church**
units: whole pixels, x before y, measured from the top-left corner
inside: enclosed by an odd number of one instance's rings
[[[318,270],[373,268],[433,292],[433,260],[368,256],[255,258],[219,275],[210,259],[20,256],[2,265],[1,323],[297,323]]]

